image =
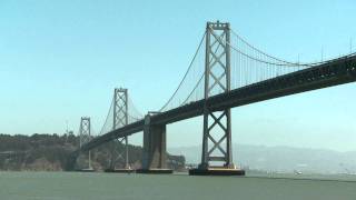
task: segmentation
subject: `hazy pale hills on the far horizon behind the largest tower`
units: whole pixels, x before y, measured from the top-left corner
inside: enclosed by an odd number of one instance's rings
[[[356,151],[234,144],[234,162],[244,168],[280,172],[355,173]],[[170,148],[186,157],[187,163],[200,162],[200,147]]]

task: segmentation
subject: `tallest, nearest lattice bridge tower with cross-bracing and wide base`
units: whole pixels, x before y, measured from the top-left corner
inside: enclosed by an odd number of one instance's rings
[[[207,22],[201,163],[190,174],[240,174],[233,163],[230,109],[210,110],[208,98],[230,91],[230,26]],[[211,166],[210,162],[222,162]]]

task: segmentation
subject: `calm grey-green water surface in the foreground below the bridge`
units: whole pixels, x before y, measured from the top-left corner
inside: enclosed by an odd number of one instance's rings
[[[287,178],[286,178],[287,177]],[[295,179],[297,178],[297,179]],[[356,200],[356,177],[0,172],[0,199],[10,200]],[[315,180],[315,178],[324,180]],[[334,180],[327,180],[334,179]]]

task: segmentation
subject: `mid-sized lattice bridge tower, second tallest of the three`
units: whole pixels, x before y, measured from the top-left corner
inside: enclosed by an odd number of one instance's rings
[[[116,88],[113,90],[113,116],[112,116],[112,130],[125,127],[129,123],[129,107],[128,107],[128,90],[123,88]],[[118,152],[117,146],[123,146],[125,156],[122,152]],[[116,169],[117,159],[123,160],[123,168]],[[111,141],[111,159],[109,169],[106,172],[132,172],[129,164],[129,149],[128,137],[118,138]]]

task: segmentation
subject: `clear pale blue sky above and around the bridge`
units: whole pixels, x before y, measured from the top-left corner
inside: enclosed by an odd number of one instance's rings
[[[100,129],[115,87],[142,112],[159,109],[182,78],[206,21],[229,21],[270,54],[308,62],[356,50],[356,2],[0,1],[0,132]],[[356,150],[356,84],[233,110],[236,143]],[[169,146],[201,141],[199,119],[168,127]],[[188,139],[189,138],[189,139]],[[134,137],[140,142],[140,136]]]

